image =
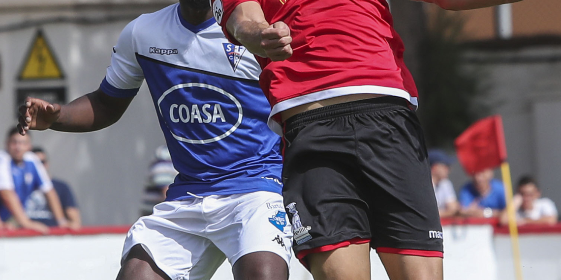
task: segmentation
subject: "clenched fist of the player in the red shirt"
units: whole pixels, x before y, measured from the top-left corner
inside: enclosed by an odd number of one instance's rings
[[[267,57],[273,61],[281,61],[291,57],[292,47],[290,43],[292,43],[290,29],[282,21],[275,22],[261,31],[261,48],[263,48]]]

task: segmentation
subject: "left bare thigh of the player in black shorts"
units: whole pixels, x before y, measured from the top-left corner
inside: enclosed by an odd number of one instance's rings
[[[370,244],[351,244],[306,255],[315,280],[369,280]]]

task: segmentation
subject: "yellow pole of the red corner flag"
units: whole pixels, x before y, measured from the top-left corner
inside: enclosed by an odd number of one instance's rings
[[[500,169],[503,175],[504,190],[507,199],[508,230],[511,233],[514,274],[516,275],[516,280],[522,280],[522,263],[520,260],[520,247],[518,245],[518,227],[516,226],[516,214],[514,213],[514,204],[512,198],[513,194],[512,194],[512,181],[511,181],[511,167],[508,165],[508,162],[503,162],[503,164],[500,165]]]

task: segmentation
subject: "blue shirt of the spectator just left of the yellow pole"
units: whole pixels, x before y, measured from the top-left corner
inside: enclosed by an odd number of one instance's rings
[[[477,191],[472,182],[465,184],[459,193],[459,201],[462,207],[469,207],[473,202],[477,202],[477,205],[481,208],[501,210],[506,208],[503,183],[497,179],[492,179],[489,184],[491,188],[485,196]]]

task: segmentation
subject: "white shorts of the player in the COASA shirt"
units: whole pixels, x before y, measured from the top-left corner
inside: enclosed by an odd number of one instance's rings
[[[280,194],[209,195],[154,206],[128,231],[121,262],[137,244],[172,280],[200,280],[210,279],[225,258],[233,265],[257,251],[289,265],[292,231]]]

